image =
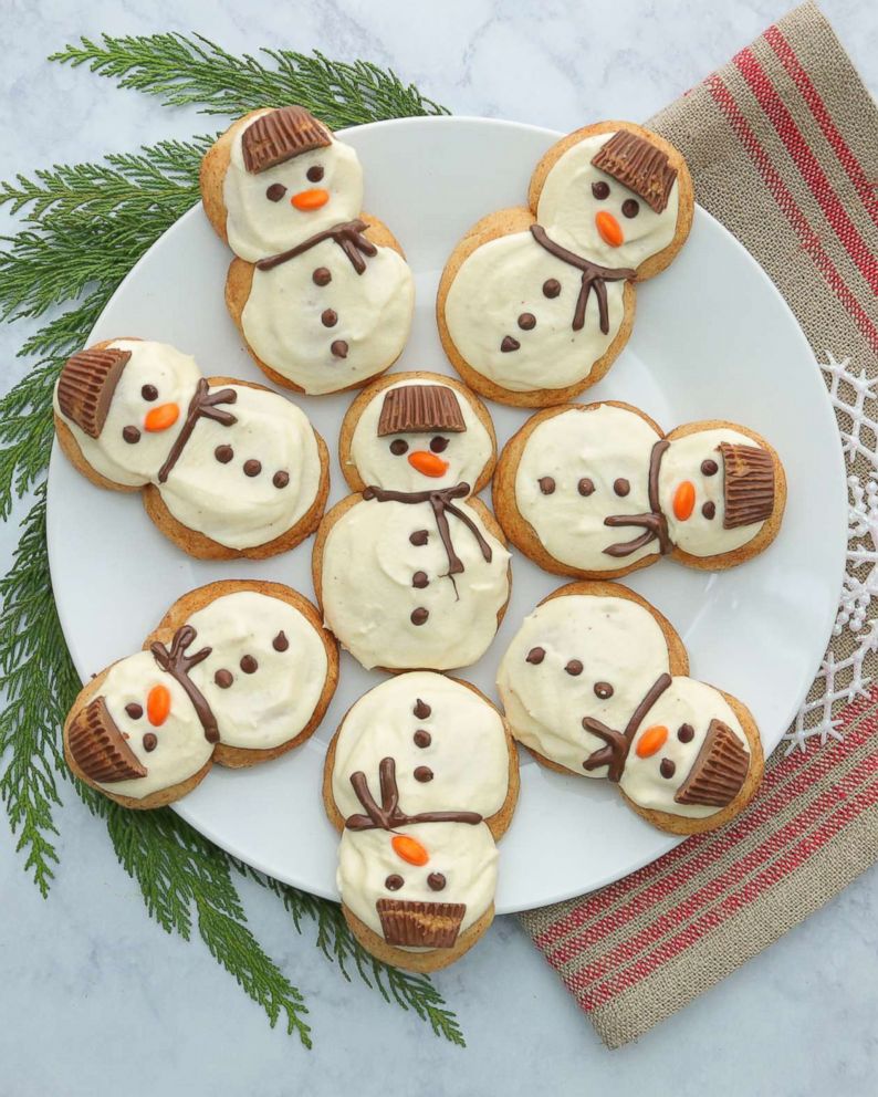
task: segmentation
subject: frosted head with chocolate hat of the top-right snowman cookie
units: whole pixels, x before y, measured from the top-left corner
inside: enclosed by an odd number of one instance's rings
[[[677,168],[649,135],[587,136],[546,176],[536,219],[574,250],[609,268],[637,269],[662,251],[680,213]]]

